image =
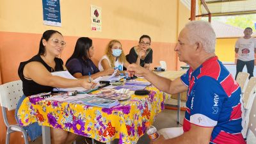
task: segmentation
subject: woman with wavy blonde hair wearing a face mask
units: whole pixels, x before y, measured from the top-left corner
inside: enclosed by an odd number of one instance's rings
[[[106,55],[102,56],[99,61],[99,70],[115,68],[122,71],[123,67],[128,65],[124,51],[122,51],[122,44],[118,40],[111,40],[106,47]]]

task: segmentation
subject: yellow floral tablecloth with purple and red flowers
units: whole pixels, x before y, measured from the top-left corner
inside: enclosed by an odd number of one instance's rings
[[[164,99],[170,98],[154,86],[147,90],[149,95],[132,95],[113,108],[26,97],[18,111],[19,124],[38,122],[102,142],[119,139],[120,144],[137,143],[145,134],[145,122],[152,124],[164,109]]]

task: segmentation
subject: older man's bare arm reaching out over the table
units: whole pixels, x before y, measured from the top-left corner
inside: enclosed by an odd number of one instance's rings
[[[157,76],[154,72],[136,64],[129,65],[129,67],[127,67],[127,71],[129,72],[129,76],[133,76],[135,74],[145,77],[145,79],[154,84],[156,88],[166,93],[175,94],[188,90],[188,87],[182,83],[180,77],[171,81],[165,77]]]

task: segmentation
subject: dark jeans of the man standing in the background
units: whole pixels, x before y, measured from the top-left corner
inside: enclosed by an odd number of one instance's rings
[[[254,69],[254,60],[251,61],[241,61],[238,60],[236,61],[236,76],[238,72],[242,72],[244,65],[246,65],[247,72],[250,74],[249,79],[253,77],[253,69]]]

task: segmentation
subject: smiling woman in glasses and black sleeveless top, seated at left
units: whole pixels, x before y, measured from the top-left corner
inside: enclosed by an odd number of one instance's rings
[[[60,32],[54,30],[45,31],[40,40],[39,51],[28,61],[20,63],[19,77],[22,81],[24,95],[20,98],[15,111],[20,108],[23,100],[38,93],[51,92],[52,88],[72,88],[83,87],[90,89],[94,83],[89,83],[88,79],[65,79],[59,76],[52,76],[51,72],[65,70],[63,61],[58,58],[63,51],[66,42]],[[35,140],[42,134],[42,127],[37,122],[24,127],[28,131],[31,140]],[[76,134],[67,132],[62,129],[51,127],[52,144],[71,144],[76,139]]]

